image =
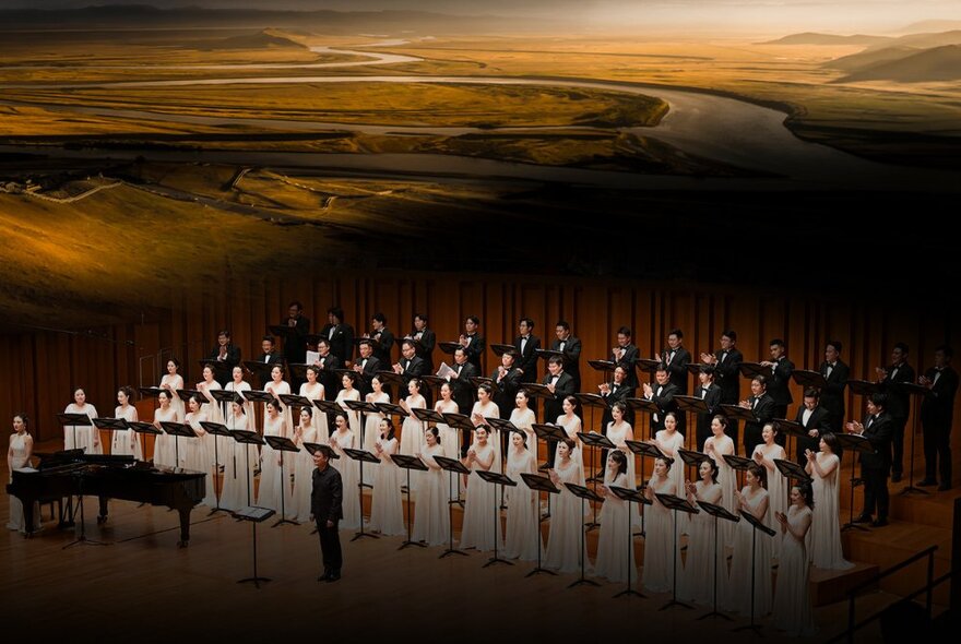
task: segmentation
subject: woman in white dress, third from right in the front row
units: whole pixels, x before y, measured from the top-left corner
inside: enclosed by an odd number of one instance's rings
[[[717,464],[712,458],[701,461],[698,476],[697,482],[687,481],[685,486],[687,500],[693,505],[702,501],[714,505],[721,503],[723,491],[717,482]],[[722,521],[715,520],[703,509],[691,515],[684,573],[677,581],[677,595],[681,599],[712,605],[715,579],[717,598],[727,596],[727,556],[720,535],[716,542],[714,540],[715,525]]]

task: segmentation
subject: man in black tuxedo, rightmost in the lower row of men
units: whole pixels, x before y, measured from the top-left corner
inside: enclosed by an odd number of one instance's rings
[[[888,397],[874,393],[867,401],[868,417],[864,424],[852,421],[847,431],[861,434],[870,441],[874,452],[861,453],[861,477],[864,479],[864,512],[854,523],[871,521],[875,508],[878,517],[871,522],[874,527],[888,525],[888,472],[891,469],[891,438],[894,432],[891,416],[885,410]]]

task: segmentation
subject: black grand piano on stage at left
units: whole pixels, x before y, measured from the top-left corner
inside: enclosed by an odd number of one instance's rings
[[[176,510],[180,514],[177,545],[183,548],[189,542],[190,511],[203,499],[206,474],[153,467],[150,463],[134,461],[133,456],[84,454],[83,450],[36,455],[40,457],[37,469],[14,469],[13,482],[7,486],[7,492],[23,503],[27,526],[34,525],[36,502],[61,502],[75,496],[99,497],[97,523],[104,523],[107,521],[107,500],[122,499]]]

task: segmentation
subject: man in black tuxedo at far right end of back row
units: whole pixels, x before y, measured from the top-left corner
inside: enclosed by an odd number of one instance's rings
[[[924,480],[917,485],[935,485],[935,472],[940,470],[941,485],[938,490],[951,489],[951,424],[954,394],[958,392],[958,372],[951,367],[953,356],[954,351],[947,345],[935,348],[935,366],[920,379],[920,383],[927,387],[927,395],[921,404]]]

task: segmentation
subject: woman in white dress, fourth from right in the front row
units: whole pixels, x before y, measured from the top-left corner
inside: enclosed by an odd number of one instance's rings
[[[656,497],[677,494],[669,468],[667,461],[655,458],[654,474],[644,489],[644,496],[651,501],[644,509],[644,588],[652,593],[671,592],[675,573],[681,574],[680,556],[675,562],[675,549],[680,549],[680,542],[674,534],[674,512]]]

